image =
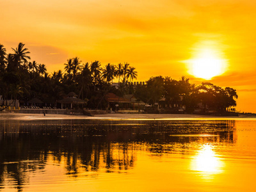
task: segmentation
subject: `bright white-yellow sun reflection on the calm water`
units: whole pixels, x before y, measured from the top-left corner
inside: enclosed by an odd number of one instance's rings
[[[223,172],[223,162],[209,144],[205,144],[191,163],[191,170],[211,176]]]

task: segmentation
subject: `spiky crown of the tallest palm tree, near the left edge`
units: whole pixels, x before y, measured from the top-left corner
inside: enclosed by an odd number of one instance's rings
[[[15,67],[20,67],[22,63],[28,63],[28,60],[30,60],[30,57],[27,56],[30,52],[27,48],[24,48],[25,44],[19,43],[18,47],[16,49],[12,50],[14,51],[13,58],[15,61]]]

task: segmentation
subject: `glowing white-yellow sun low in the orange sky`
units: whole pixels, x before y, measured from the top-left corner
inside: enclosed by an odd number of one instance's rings
[[[227,60],[223,59],[216,47],[198,47],[193,55],[194,58],[186,63],[189,74],[195,77],[208,80],[220,76],[227,68]]]

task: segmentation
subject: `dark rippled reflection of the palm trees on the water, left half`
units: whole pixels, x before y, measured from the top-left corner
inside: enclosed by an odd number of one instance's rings
[[[81,172],[97,172],[99,169],[119,172],[133,166],[131,143],[111,143],[102,141],[102,138],[60,138],[54,136],[54,132],[51,136],[42,136],[45,129],[47,127],[42,127],[39,130],[41,133],[39,134],[37,130],[36,133],[34,132],[35,135],[3,137],[0,141],[2,186],[4,178],[9,177],[12,178],[13,181],[10,182],[15,183],[18,191],[22,191],[23,186],[29,183],[29,172],[44,169],[49,158],[53,159],[54,163],[65,163],[67,174],[71,177],[77,177]],[[40,163],[33,163],[32,160]]]

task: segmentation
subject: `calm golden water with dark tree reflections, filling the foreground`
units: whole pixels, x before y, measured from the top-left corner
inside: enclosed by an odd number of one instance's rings
[[[0,148],[0,191],[256,188],[256,120],[2,120]]]

